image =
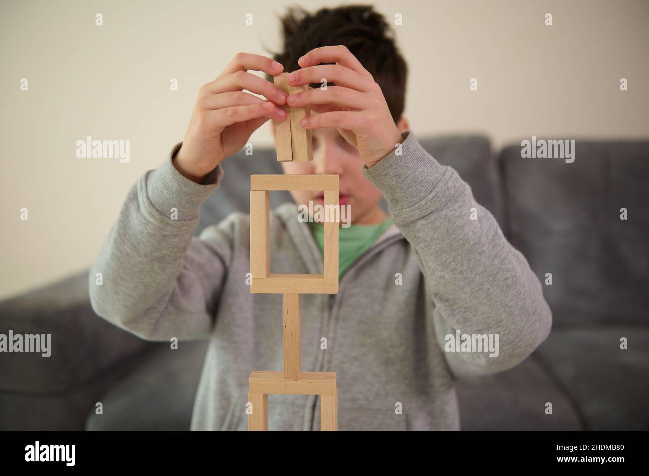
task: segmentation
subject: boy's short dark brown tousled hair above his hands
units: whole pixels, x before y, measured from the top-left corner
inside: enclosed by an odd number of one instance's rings
[[[297,60],[314,48],[345,45],[380,85],[395,122],[400,119],[406,102],[408,65],[386,19],[373,6],[321,8],[313,14],[294,6],[280,21],[282,51],[273,54],[273,59],[284,65],[285,73],[299,69]],[[266,78],[273,81],[268,74]]]

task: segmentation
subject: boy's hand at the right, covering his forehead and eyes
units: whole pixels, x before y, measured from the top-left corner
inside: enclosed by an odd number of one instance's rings
[[[318,113],[302,119],[305,129],[337,128],[358,149],[368,168],[403,141],[380,86],[347,47],[315,48],[302,56],[298,64],[302,69],[289,73],[288,84],[319,83],[322,78],[336,83],[326,91],[309,89],[288,96],[289,106],[309,105]]]

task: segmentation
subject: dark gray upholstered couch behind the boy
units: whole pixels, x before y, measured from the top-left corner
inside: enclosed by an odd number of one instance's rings
[[[462,429],[649,429],[649,141],[576,141],[572,164],[522,159],[518,144],[493,153],[480,135],[421,141],[471,185],[541,282],[552,273],[550,337],[507,372],[458,381]],[[273,150],[224,168],[197,233],[248,211],[250,174],[281,173]],[[271,193],[273,207],[289,199]],[[207,343],[169,352],[106,323],[87,273],[0,302],[0,333],[10,329],[52,334],[56,352],[0,354],[0,429],[189,429]]]

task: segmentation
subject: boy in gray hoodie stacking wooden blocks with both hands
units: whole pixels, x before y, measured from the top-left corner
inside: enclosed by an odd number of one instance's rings
[[[347,6],[292,10],[282,23],[278,61],[238,54],[201,87],[184,141],[130,190],[90,271],[93,308],[143,339],[211,339],[191,429],[245,430],[250,372],[282,369],[282,295],[249,292],[247,215],[192,235],[227,180],[221,161],[263,122],[286,120],[279,106],[309,104],[313,161],[282,166],[339,174],[352,227],[340,230],[339,293],[300,296],[302,370],[337,373],[341,430],[459,429],[454,379],[511,368],[548,335],[541,284],[469,186],[408,130],[406,63],[383,17]],[[249,70],[328,87],[286,98]],[[297,220],[297,204],[317,194],[292,196],[271,212],[273,273],[322,273],[321,225]],[[496,349],[454,348],[456,333],[495,336]],[[317,396],[268,402],[269,429],[319,429]]]

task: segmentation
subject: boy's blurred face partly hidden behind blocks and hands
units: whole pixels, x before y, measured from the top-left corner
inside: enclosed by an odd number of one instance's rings
[[[270,121],[275,130],[273,121]],[[313,161],[282,162],[284,174],[313,175],[332,174],[339,177],[339,203],[350,205],[351,224],[380,223],[386,218],[378,203],[382,194],[374,187],[361,171],[363,159],[358,150],[343,137],[336,128],[319,128],[311,131],[313,144]],[[323,204],[323,192],[291,190],[293,200],[298,205]]]

